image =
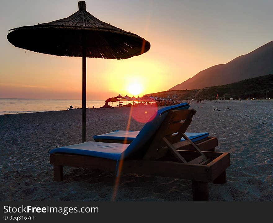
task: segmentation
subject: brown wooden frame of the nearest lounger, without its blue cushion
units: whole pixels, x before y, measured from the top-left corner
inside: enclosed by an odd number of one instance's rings
[[[171,110],[142,157],[125,159],[118,173],[136,173],[181,178],[192,181],[194,201],[208,200],[208,182],[226,183],[226,168],[230,166],[227,152],[204,152],[204,143],[194,144],[186,135],[194,109]],[[174,133],[177,133],[173,135]],[[185,141],[180,141],[181,137]],[[217,139],[216,139],[217,141]],[[203,144],[202,144],[203,143]],[[183,150],[181,150],[183,148]],[[194,149],[193,151],[184,150]],[[201,151],[203,150],[203,152]],[[110,159],[68,153],[50,154],[54,165],[54,181],[63,180],[63,166],[85,167],[116,172],[117,162]]]

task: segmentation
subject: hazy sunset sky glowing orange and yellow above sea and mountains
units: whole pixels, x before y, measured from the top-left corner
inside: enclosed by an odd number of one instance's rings
[[[68,17],[78,1],[0,2],[0,98],[80,99],[81,58],[25,52],[6,37],[11,28]],[[86,0],[86,6],[151,43],[147,53],[126,60],[87,58],[87,99],[165,91],[273,40],[272,0]]]

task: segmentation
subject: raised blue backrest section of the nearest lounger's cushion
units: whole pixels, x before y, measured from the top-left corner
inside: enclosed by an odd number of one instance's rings
[[[154,115],[151,116],[148,122],[146,122],[144,127],[138,133],[137,137],[121,154],[122,159],[143,156],[147,150],[147,146],[145,145],[151,141],[163,120],[167,117],[168,112],[175,109],[188,109],[189,107],[189,104],[181,103],[159,109]]]

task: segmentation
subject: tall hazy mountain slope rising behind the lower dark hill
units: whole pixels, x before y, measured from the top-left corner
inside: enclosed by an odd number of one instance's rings
[[[169,90],[202,89],[271,73],[273,73],[273,41],[226,64],[218,64],[200,71]]]

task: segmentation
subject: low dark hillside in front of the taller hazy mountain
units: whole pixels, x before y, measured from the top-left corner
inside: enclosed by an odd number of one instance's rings
[[[177,95],[178,99],[198,99],[215,100],[218,99],[239,99],[239,98],[273,98],[273,74],[241,80],[232,84],[206,87],[194,90],[169,90],[152,93],[157,97],[171,97]]]

